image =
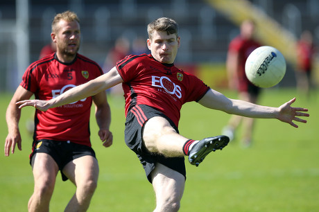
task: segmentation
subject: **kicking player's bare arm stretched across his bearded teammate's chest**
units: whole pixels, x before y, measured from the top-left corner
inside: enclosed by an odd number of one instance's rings
[[[17,105],[20,105],[19,108],[26,106],[33,106],[36,109],[46,111],[52,107],[58,107],[61,105],[66,105],[73,103],[77,100],[86,98],[88,96],[94,96],[101,91],[104,91],[114,85],[123,82],[121,76],[117,72],[117,69],[114,67],[109,72],[90,80],[89,82],[69,89],[60,96],[52,98],[51,100],[23,100],[17,102]]]

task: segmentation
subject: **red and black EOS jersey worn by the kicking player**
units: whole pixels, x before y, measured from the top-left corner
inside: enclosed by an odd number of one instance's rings
[[[128,55],[117,62],[123,78],[126,114],[135,105],[155,107],[178,126],[184,103],[198,101],[209,87],[196,76],[162,64],[152,55]]]

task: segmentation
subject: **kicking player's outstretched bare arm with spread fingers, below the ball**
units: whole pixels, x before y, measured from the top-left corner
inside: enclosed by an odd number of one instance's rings
[[[291,107],[291,104],[294,102],[295,98],[280,107],[267,107],[248,103],[243,100],[230,99],[218,91],[211,89],[207,91],[207,94],[198,103],[211,109],[221,110],[227,114],[236,114],[250,118],[277,118],[293,127],[298,127],[293,121],[307,123],[306,120],[298,116],[309,116],[309,114],[304,113],[308,111],[306,108]]]

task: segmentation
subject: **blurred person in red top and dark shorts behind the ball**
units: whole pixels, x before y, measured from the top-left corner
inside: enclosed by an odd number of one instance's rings
[[[260,88],[252,85],[245,76],[245,62],[256,48],[261,46],[254,38],[255,23],[252,20],[245,20],[241,24],[241,33],[230,42],[227,53],[227,76],[230,89],[236,89],[239,92],[239,99],[250,103],[257,103]],[[243,121],[243,138],[241,144],[243,147],[249,147],[252,143],[252,130],[254,127],[253,118],[232,115],[227,126],[223,128],[223,134],[234,139],[236,128]]]

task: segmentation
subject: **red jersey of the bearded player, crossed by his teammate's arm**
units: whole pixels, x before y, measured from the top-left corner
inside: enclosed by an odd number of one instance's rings
[[[73,62],[66,64],[53,53],[33,62],[26,69],[20,85],[33,92],[36,99],[49,100],[102,74],[101,67],[83,55],[77,54]],[[46,112],[36,110],[34,139],[71,141],[91,146],[91,105],[92,97],[88,97]]]

